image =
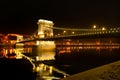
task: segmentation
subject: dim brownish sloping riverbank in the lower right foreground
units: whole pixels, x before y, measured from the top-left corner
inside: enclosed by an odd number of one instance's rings
[[[60,80],[120,80],[120,61],[90,69]]]

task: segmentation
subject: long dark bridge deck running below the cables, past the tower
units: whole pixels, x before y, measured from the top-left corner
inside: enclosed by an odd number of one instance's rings
[[[31,42],[31,41],[55,41],[55,40],[62,40],[62,39],[97,39],[97,38],[120,38],[120,33],[68,35],[68,36],[57,36],[57,37],[46,37],[46,38],[33,38],[33,39],[26,39],[17,43],[24,43],[24,42]]]

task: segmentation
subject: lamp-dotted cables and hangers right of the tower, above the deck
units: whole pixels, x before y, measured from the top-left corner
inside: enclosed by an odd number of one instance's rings
[[[115,33],[119,32],[120,28],[97,28],[96,25],[94,25],[91,29],[67,29],[61,30],[60,33],[55,34],[55,36],[62,36],[62,35],[88,35],[88,34],[102,34],[102,33]]]

